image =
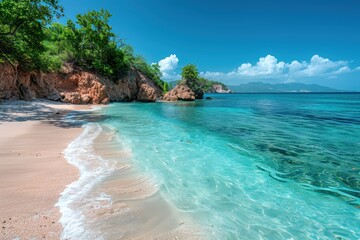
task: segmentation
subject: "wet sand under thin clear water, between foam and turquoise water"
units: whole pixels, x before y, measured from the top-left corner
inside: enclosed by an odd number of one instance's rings
[[[90,205],[76,200],[76,210],[87,218],[83,222],[87,233],[69,238],[208,239],[200,226],[164,198],[151,176],[139,171],[131,160],[132,151],[116,135],[117,131],[103,126],[94,141],[93,154],[112,172],[86,193]]]

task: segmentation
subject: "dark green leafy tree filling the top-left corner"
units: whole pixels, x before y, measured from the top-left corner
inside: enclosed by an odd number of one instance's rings
[[[0,61],[14,68],[42,69],[46,50],[44,30],[63,9],[58,0],[2,0],[0,2]]]

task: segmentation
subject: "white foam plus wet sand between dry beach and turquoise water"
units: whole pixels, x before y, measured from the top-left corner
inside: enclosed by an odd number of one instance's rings
[[[57,206],[64,239],[203,239],[200,227],[159,191],[132,163],[118,133],[99,123],[64,151],[80,177],[66,187]],[[78,149],[81,149],[79,151]]]

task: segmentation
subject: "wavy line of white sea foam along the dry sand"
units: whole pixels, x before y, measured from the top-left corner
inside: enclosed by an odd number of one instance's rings
[[[113,171],[111,163],[94,152],[93,143],[102,132],[102,127],[97,123],[87,123],[83,128],[81,135],[64,150],[65,159],[79,169],[80,177],[65,188],[55,205],[60,208],[62,215],[62,239],[91,237],[90,230],[84,224],[84,202],[88,200],[87,195],[94,185]]]

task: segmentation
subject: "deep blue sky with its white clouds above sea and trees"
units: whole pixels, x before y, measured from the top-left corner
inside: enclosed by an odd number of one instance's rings
[[[114,32],[148,62],[164,59],[169,80],[194,63],[227,84],[303,82],[360,91],[360,0],[61,2],[70,19],[109,10]]]

